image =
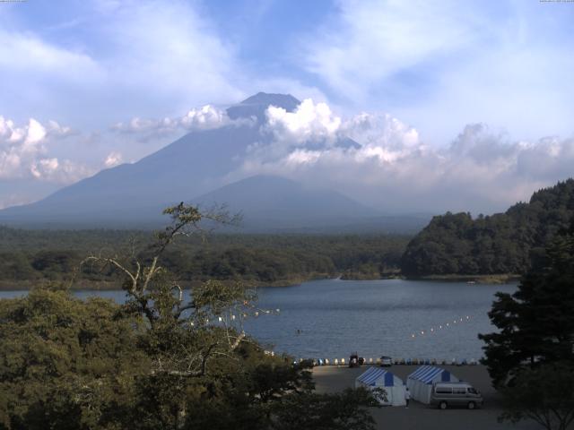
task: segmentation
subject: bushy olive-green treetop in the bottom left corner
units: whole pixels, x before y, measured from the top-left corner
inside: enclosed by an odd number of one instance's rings
[[[136,347],[142,323],[110,300],[63,290],[0,300],[0,428],[121,421],[131,381],[150,366]]]

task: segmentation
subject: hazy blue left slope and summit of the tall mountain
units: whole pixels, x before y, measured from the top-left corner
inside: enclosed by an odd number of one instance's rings
[[[230,107],[230,116],[247,121],[188,133],[134,164],[102,170],[47,198],[0,211],[0,222],[36,224],[122,224],[153,221],[166,202],[187,200],[220,185],[239,167],[239,156],[261,140],[252,116],[265,116],[273,104],[292,111],[292,96],[259,93]]]

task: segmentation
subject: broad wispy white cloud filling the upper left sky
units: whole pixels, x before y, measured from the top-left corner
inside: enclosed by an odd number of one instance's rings
[[[97,129],[245,96],[235,83],[245,81],[235,47],[197,4],[94,1],[69,9],[72,28],[25,27],[19,11],[0,23],[9,28],[0,30],[0,110],[45,117],[49,100],[50,116]]]

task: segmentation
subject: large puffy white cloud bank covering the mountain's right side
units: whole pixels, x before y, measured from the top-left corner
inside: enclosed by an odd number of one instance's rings
[[[317,106],[307,100],[291,114],[270,107],[264,138],[228,179],[278,174],[387,211],[490,212],[574,175],[574,139],[515,142],[476,124],[466,125],[450,145],[434,148],[393,116],[341,119]]]

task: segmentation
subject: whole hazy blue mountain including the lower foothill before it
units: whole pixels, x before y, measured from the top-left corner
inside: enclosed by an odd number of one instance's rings
[[[0,223],[37,228],[156,228],[166,222],[161,211],[185,202],[227,203],[245,214],[245,229],[326,229],[337,231],[412,232],[422,219],[381,217],[329,190],[304,187],[277,176],[255,176],[220,188],[237,174],[249,151],[269,145],[265,127],[269,106],[293,112],[300,101],[291,95],[257,93],[227,109],[230,121],[216,129],[187,133],[134,164],[103,170],[66,186],[47,198],[0,211]],[[321,145],[317,142],[317,145]],[[350,148],[346,137],[329,145]],[[198,197],[200,196],[200,197]]]

